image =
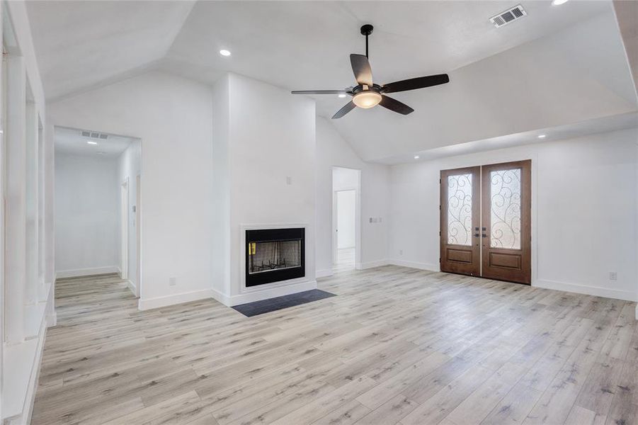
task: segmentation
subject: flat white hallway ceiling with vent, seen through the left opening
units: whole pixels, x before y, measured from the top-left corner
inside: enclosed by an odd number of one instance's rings
[[[84,131],[96,132],[96,130],[89,129],[84,129]],[[56,127],[54,136],[55,153],[112,159],[119,157],[136,140],[134,137],[110,134],[107,136],[106,140],[85,137],[82,135],[82,130]],[[91,145],[87,143],[89,140],[98,142],[98,144]]]

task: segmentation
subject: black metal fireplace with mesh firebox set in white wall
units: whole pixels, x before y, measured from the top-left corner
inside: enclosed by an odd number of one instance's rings
[[[306,275],[305,229],[246,230],[246,288]]]

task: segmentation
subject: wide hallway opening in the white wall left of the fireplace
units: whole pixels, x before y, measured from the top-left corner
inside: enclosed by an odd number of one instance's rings
[[[142,141],[55,126],[54,144],[57,277],[117,273],[139,296]]]

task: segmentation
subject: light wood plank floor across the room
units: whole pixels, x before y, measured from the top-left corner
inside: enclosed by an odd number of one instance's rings
[[[33,424],[638,423],[632,302],[397,266],[247,318],[59,280]]]

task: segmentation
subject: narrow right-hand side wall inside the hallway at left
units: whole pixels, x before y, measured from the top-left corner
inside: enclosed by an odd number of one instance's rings
[[[142,174],[142,142],[134,140],[130,146],[120,154],[118,158],[118,188],[128,181],[128,264],[127,278],[137,288],[137,220],[133,208],[137,205],[137,176]],[[141,185],[140,185],[141,186]],[[118,197],[118,205],[121,202]],[[119,210],[118,210],[119,211]],[[120,223],[121,225],[121,223]],[[121,244],[118,244],[118,252],[121,255]]]

